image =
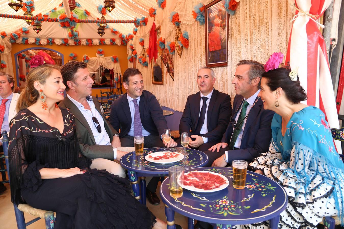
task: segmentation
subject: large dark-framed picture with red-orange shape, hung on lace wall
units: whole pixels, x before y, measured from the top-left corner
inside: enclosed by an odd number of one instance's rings
[[[205,65],[227,66],[229,14],[221,0],[205,6]]]

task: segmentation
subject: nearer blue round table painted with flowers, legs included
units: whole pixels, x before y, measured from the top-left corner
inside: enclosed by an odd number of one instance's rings
[[[168,229],[175,229],[174,211],[188,217],[188,228],[194,228],[194,219],[214,225],[214,229],[228,229],[231,225],[251,224],[270,220],[270,228],[277,229],[280,213],[288,203],[287,193],[270,178],[247,171],[246,187],[233,187],[233,170],[226,167],[203,167],[189,171],[212,171],[226,176],[227,188],[213,193],[191,192],[184,188],[183,196],[170,196],[169,178],[160,186],[165,204]]]

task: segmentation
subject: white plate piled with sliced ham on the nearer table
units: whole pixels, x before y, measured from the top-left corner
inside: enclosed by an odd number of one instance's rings
[[[192,171],[184,174],[183,188],[192,192],[216,192],[229,185],[228,179],[221,174],[208,171]]]

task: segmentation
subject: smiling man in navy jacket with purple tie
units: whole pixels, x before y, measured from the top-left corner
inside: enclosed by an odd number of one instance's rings
[[[134,137],[144,137],[144,148],[175,147],[173,139],[166,143],[162,139],[164,130],[168,129],[163,111],[155,96],[143,90],[143,78],[136,68],[128,68],[123,73],[123,87],[127,93],[112,103],[110,124],[115,130],[120,129],[121,146],[134,147]],[[151,204],[159,204],[155,194],[159,177],[154,177],[147,185],[147,198]]]

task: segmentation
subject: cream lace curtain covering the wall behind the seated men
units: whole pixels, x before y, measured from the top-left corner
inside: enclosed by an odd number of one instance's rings
[[[175,5],[182,5],[182,1],[179,2]],[[208,0],[204,4],[209,2]],[[195,2],[194,5],[197,3],[199,2]],[[190,7],[189,4],[187,4],[187,7]],[[185,10],[190,11],[190,9]],[[157,17],[159,18],[158,13],[159,10],[157,10]],[[281,51],[286,54],[292,13],[289,10],[287,0],[241,0],[234,16],[229,18],[228,67],[213,69],[216,77],[214,88],[228,93],[233,101],[235,91],[231,81],[235,73],[236,64],[241,59],[253,59],[265,64],[269,54],[275,51]],[[168,22],[168,24],[172,25],[170,21]],[[163,66],[164,85],[152,84],[151,64],[146,68],[137,62],[136,66],[142,72],[144,89],[157,96],[163,106],[182,112],[187,96],[199,91],[196,75],[198,69],[205,65],[205,28],[204,25],[201,26],[198,22],[192,24],[186,24],[183,20],[181,22],[181,30],[189,32],[190,42],[189,48],[183,49],[181,58],[179,58],[178,54],[175,54],[173,57],[174,81],[166,73],[166,67]],[[165,29],[164,26],[167,26],[164,23],[161,25],[162,32]],[[170,27],[170,25],[168,26]],[[174,32],[174,26],[171,31],[166,30],[164,33],[166,35],[166,43],[174,41]],[[140,47],[137,48],[139,53],[138,49],[141,49],[141,46],[135,45],[135,39],[133,43],[134,47]],[[147,46],[148,44],[145,45]],[[128,67],[131,66],[132,63],[128,62]]]

